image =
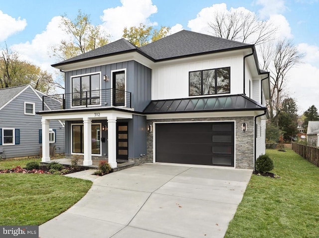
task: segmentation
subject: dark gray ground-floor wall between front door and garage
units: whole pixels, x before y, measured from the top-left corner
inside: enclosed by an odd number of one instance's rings
[[[147,151],[146,116],[133,115],[129,120],[129,158],[138,158]]]

